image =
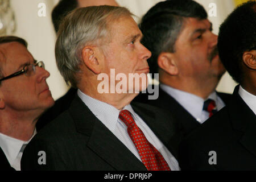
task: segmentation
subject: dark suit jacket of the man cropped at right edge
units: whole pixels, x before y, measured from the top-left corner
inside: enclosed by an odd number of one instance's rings
[[[209,164],[209,151],[216,152],[216,165]],[[193,131],[179,154],[183,170],[256,170],[256,116],[238,94],[238,86],[230,104]]]

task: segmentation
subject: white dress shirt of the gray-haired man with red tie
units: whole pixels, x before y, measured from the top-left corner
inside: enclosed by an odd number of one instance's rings
[[[105,102],[98,101],[92,97],[77,90],[78,96],[92,113],[117,137],[133,154],[141,160],[137,148],[127,132],[127,126],[119,118],[121,110],[116,109],[114,106],[106,104]],[[163,145],[162,142],[156,137],[146,123],[137,115],[131,105],[126,105],[123,109],[127,109],[133,115],[135,123],[143,131],[148,142],[150,142],[166,160],[168,166],[172,171],[179,170],[179,164],[170,151]],[[157,122],[157,121],[156,121]],[[142,160],[141,160],[142,161]]]

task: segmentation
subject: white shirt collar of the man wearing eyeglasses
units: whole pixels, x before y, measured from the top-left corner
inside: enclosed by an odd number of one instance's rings
[[[35,129],[34,134],[30,138],[30,140],[35,136],[36,133],[37,132]],[[22,149],[24,150],[24,147],[22,147],[23,144],[28,144],[30,140],[23,141],[0,133],[0,147],[5,153],[5,156],[10,164],[14,163],[14,160],[17,158],[19,152],[23,152],[21,151]]]

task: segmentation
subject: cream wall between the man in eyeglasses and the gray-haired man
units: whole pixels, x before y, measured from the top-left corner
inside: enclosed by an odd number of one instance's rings
[[[38,16],[39,3],[46,4],[46,16]],[[51,76],[47,82],[53,98],[67,91],[67,86],[55,63],[55,31],[51,22],[51,11],[55,5],[51,0],[11,0],[16,19],[16,36],[27,40],[28,50],[36,60],[44,61]]]

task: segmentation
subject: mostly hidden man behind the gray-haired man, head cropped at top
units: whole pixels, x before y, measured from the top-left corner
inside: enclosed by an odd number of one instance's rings
[[[86,6],[99,6],[99,5],[111,5],[118,6],[118,3],[115,0],[60,0],[59,3],[55,6],[52,11],[52,22],[57,32],[59,30],[59,24],[61,20],[73,9],[77,7],[86,7]],[[48,109],[46,113],[39,118],[39,122],[36,127],[41,129],[47,123],[55,119],[59,114],[64,110],[68,109],[73,98],[76,96],[77,88],[71,87],[64,96],[56,100],[55,105]]]

